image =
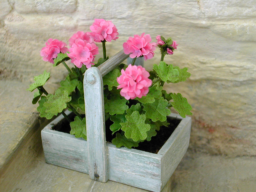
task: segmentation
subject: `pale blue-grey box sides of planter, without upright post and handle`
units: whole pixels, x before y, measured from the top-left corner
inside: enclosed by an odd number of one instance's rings
[[[170,116],[182,120],[158,154],[116,148],[107,143],[109,180],[149,191],[161,191],[187,151],[190,137],[191,118],[183,119],[176,114]],[[42,130],[46,162],[88,174],[88,142],[51,130],[54,124],[56,122]]]

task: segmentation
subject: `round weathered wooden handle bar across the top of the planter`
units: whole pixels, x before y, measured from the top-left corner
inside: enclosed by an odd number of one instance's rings
[[[104,77],[106,74],[108,74],[110,71],[112,71],[116,66],[118,66],[120,63],[122,63],[125,59],[127,59],[129,55],[126,55],[123,50],[119,51],[114,56],[110,57],[107,61],[102,63],[98,69]]]

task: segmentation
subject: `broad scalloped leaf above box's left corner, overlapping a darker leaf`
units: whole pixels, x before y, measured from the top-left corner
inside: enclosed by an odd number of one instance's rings
[[[48,113],[60,113],[63,109],[67,108],[67,102],[71,101],[71,97],[68,96],[69,93],[65,90],[57,89],[55,95],[48,94],[47,100],[44,103],[46,107],[45,112]]]

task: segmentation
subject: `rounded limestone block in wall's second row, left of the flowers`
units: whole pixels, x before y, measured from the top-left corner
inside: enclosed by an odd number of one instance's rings
[[[62,14],[21,15],[9,14],[5,19],[5,29],[17,39],[43,40],[49,38],[67,41],[73,35],[76,22],[72,17]],[[63,39],[64,38],[64,39]]]

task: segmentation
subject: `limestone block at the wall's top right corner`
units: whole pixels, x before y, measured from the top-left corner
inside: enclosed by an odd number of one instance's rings
[[[256,16],[254,0],[198,0],[200,10],[208,19],[246,19]]]

